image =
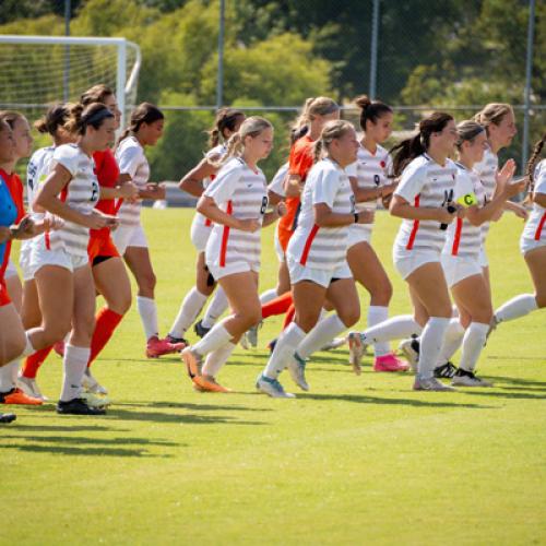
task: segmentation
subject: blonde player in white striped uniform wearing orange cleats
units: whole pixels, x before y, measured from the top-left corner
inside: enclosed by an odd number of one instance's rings
[[[201,341],[182,351],[188,373],[201,390],[228,391],[215,378],[240,336],[261,318],[260,228],[283,212],[278,207],[265,212],[268,185],[258,167],[272,146],[272,124],[260,117],[247,118],[229,140],[223,167],[198,203],[198,211],[214,223],[206,244],[206,265],[233,310]]]

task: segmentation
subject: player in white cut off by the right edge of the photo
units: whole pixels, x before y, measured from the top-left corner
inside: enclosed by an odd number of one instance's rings
[[[531,273],[535,294],[521,294],[499,307],[495,311],[492,328],[546,307],[546,159],[538,162],[545,142],[546,134],[543,134],[527,164],[529,199],[533,210],[520,239],[520,249]]]

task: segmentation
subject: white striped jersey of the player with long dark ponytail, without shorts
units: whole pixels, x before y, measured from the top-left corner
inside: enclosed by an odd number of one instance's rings
[[[451,159],[439,165],[428,154],[413,159],[402,173],[395,195],[411,205],[424,209],[447,206],[454,198],[456,166]],[[446,230],[435,219],[403,219],[394,240],[394,253],[413,250],[435,251],[438,254],[446,244]]]

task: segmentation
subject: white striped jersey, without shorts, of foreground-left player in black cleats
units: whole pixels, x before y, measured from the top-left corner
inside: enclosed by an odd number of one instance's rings
[[[55,149],[51,167],[62,165],[71,175],[60,198],[71,209],[91,214],[99,198],[95,163],[78,144],[62,144]],[[88,227],[64,221],[60,229],[48,232],[44,238],[48,250],[64,249],[69,254],[87,257]]]

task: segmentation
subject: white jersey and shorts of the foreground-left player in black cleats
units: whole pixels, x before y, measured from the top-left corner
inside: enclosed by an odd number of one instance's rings
[[[60,199],[82,214],[91,214],[98,201],[99,188],[93,158],[76,144],[55,149],[51,166],[62,165],[71,175]],[[74,271],[88,263],[90,229],[66,221],[62,227],[36,237],[32,248],[31,270],[35,274],[44,265],[59,265]]]

